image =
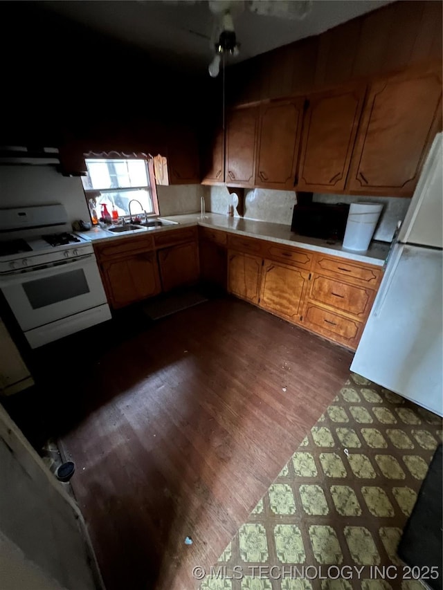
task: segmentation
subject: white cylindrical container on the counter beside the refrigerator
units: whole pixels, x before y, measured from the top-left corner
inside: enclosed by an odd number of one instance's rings
[[[355,252],[368,250],[382,209],[379,203],[351,203],[343,248]]]

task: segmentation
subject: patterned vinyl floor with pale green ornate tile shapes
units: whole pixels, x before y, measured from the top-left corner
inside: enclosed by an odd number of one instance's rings
[[[396,548],[441,440],[438,416],[351,374],[201,590],[422,590]]]

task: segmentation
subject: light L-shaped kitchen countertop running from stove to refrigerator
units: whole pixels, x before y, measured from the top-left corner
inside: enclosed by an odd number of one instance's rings
[[[252,238],[268,239],[288,246],[298,246],[298,248],[305,248],[306,250],[313,250],[314,252],[323,252],[323,254],[340,256],[348,260],[368,262],[369,264],[375,264],[377,266],[383,266],[390,248],[389,243],[372,241],[370,247],[365,252],[352,252],[351,250],[345,250],[340,242],[328,243],[324,239],[309,238],[295,234],[294,232],[291,232],[289,225],[269,223],[267,221],[254,221],[253,219],[243,219],[242,217],[228,217],[227,215],[220,215],[218,213],[207,213],[204,219],[200,218],[199,213],[173,215],[162,217],[161,219],[177,221],[178,225],[168,225],[164,228],[156,228],[155,230],[143,228],[143,230],[133,230],[132,232],[125,232],[124,234],[112,234],[107,230],[102,230],[100,228],[92,228],[89,232],[77,233],[84,239],[94,242],[102,242],[110,239],[123,239],[132,235],[141,235],[146,232],[168,232],[180,227],[202,225],[206,228],[215,228]]]

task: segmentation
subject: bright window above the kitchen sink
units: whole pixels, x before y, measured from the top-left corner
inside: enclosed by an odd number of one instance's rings
[[[148,215],[159,214],[152,163],[135,158],[88,158],[85,161],[88,174],[82,176],[82,183],[93,221],[94,211],[101,217],[103,204],[107,205],[109,214],[115,208],[119,217],[128,216],[133,199],[140,204],[132,204],[132,214],[143,211]]]

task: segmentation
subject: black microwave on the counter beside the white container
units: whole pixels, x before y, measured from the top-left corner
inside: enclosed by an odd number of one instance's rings
[[[306,203],[293,208],[291,231],[300,236],[342,241],[345,235],[348,203]]]

